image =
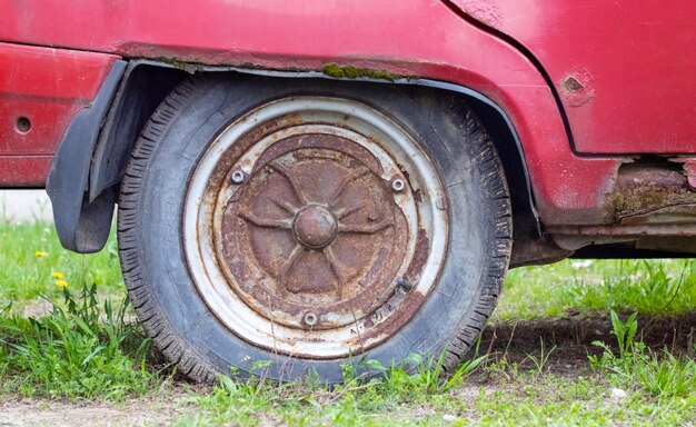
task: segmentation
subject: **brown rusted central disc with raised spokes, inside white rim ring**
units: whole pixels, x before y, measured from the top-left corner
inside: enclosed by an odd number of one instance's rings
[[[260,153],[215,234],[236,292],[289,327],[306,327],[311,307],[318,330],[384,304],[408,231],[382,172],[367,149],[330,135],[289,137]]]

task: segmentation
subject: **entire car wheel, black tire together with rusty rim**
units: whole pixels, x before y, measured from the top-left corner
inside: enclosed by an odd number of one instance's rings
[[[203,76],[143,129],[121,185],[123,278],[157,347],[197,380],[341,380],[446,352],[495,307],[510,251],[494,145],[447,92]]]

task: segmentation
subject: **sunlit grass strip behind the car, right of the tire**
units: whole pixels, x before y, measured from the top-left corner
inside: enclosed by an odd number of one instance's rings
[[[696,307],[696,260],[564,260],[514,269],[495,319],[568,312],[675,315]]]

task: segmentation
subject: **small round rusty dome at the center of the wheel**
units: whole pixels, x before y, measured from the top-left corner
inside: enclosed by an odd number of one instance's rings
[[[334,241],[338,232],[338,224],[328,209],[309,205],[297,212],[292,231],[304,246],[320,249]]]

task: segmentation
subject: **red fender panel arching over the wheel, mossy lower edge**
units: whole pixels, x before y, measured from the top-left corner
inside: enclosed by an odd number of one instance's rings
[[[605,193],[624,159],[576,156],[537,67],[445,3],[213,0],[200,8],[172,0],[166,13],[155,2],[137,0],[77,3],[0,0],[7,16],[17,17],[0,28],[0,40],[166,59],[175,66],[321,72],[337,64],[379,71],[375,77],[467,88],[509,118],[545,225],[607,220]]]

